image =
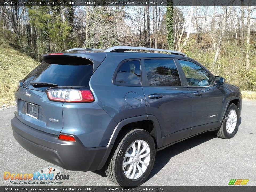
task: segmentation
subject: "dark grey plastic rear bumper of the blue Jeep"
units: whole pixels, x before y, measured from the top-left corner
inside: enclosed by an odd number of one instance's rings
[[[73,171],[93,171],[102,169],[113,145],[86,148],[75,137],[75,142],[67,142],[53,135],[33,129],[14,117],[11,120],[13,136],[30,153],[64,169]]]

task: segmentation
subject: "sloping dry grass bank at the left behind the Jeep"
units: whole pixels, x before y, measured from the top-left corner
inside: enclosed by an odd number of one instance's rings
[[[32,71],[39,62],[9,45],[0,46],[0,108],[15,105],[17,83]]]

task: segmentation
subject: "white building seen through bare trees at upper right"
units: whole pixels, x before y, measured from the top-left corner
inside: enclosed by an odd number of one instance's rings
[[[215,23],[215,28],[220,29],[220,27],[222,26],[222,22],[223,22],[222,15],[215,16],[215,22],[213,20],[212,15],[193,17],[190,32],[196,33],[197,29],[200,32],[211,31],[214,27],[214,23]],[[242,22],[240,19],[240,23],[238,26],[237,18],[234,15],[230,15],[229,19],[227,20],[226,30],[234,31],[235,29],[239,29],[241,27],[241,23]],[[247,17],[244,17],[244,25],[246,28],[247,27]],[[250,25],[251,25],[251,29],[256,30],[256,18],[251,18]]]

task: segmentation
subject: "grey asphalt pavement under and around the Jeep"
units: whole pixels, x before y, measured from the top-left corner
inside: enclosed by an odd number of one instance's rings
[[[10,121],[14,111],[0,110],[0,186],[35,186],[13,185],[3,174],[34,173],[44,167],[57,167],[70,175],[56,186],[115,186],[103,170],[69,171],[27,152],[13,137]],[[153,170],[142,186],[227,186],[231,179],[249,179],[247,186],[256,186],[255,129],[256,101],[243,100],[241,124],[233,138],[220,139],[207,132],[157,152]]]

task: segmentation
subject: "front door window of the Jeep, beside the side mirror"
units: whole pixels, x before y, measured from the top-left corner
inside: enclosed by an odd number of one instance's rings
[[[189,86],[208,86],[213,84],[210,74],[199,65],[185,60],[179,60],[179,63]]]

